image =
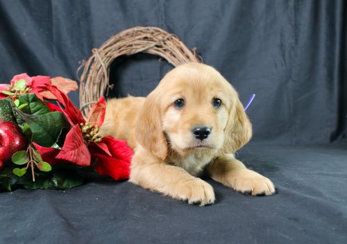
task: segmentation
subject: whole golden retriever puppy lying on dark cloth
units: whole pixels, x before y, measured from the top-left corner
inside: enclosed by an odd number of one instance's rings
[[[108,101],[101,134],[135,149],[130,182],[189,204],[212,204],[212,186],[271,195],[275,186],[235,159],[252,126],[237,92],[212,67],[183,64],[167,73],[146,98]]]

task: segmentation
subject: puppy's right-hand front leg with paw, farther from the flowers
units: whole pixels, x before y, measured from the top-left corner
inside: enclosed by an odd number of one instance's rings
[[[217,157],[207,169],[213,180],[235,191],[252,195],[272,195],[276,191],[271,180],[249,170],[233,155]]]

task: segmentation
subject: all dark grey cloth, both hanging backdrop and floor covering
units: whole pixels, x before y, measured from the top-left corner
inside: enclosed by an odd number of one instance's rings
[[[256,94],[247,111],[254,137],[239,158],[279,193],[251,198],[212,183],[217,203],[201,208],[103,177],[67,191],[0,193],[0,243],[346,243],[346,8],[342,0],[1,0],[1,83],[22,72],[76,78],[93,47],[133,26],[196,46],[243,103]],[[169,69],[151,55],[121,58],[112,96],[146,96]],[[78,93],[70,97],[77,105]]]

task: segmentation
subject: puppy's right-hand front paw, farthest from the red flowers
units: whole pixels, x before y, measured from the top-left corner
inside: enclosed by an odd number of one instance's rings
[[[276,188],[268,178],[249,169],[242,169],[227,175],[228,185],[235,191],[251,195],[272,195]]]

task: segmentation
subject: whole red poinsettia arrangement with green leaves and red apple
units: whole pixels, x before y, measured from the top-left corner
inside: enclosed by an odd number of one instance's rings
[[[133,150],[101,137],[105,98],[87,118],[67,94],[74,80],[22,73],[0,85],[0,191],[68,189],[83,184],[82,171],[127,179]]]

